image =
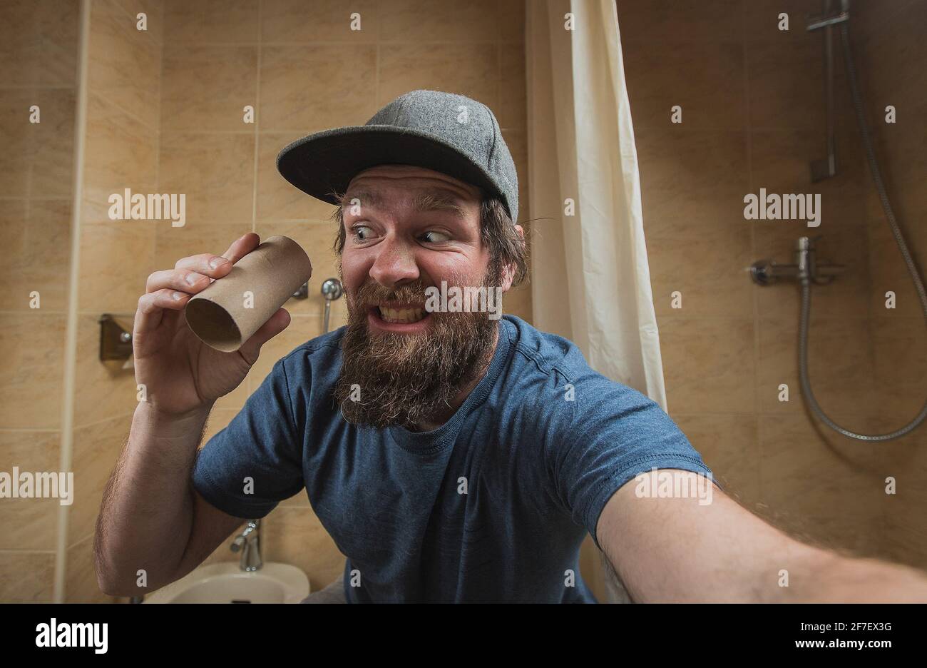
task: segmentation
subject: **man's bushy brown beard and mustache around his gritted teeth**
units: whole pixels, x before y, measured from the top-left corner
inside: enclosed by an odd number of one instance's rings
[[[483,285],[500,285],[499,274],[490,266]],[[396,290],[367,282],[353,305],[348,300],[343,362],[335,387],[341,413],[349,422],[375,429],[415,430],[418,424],[443,421],[458,392],[489,363],[498,320],[489,319],[488,313],[433,312],[421,334],[372,334],[367,307],[382,302],[424,303],[425,288],[420,281]]]

